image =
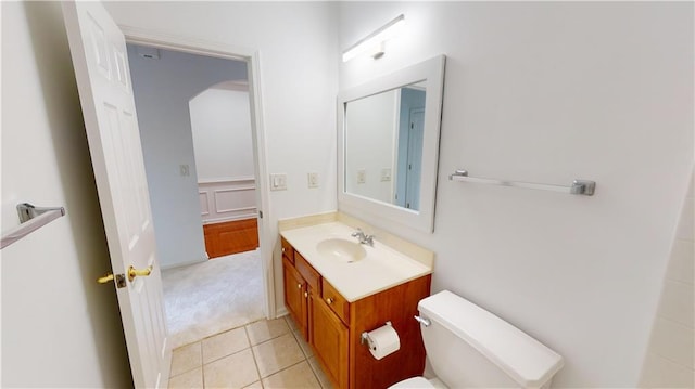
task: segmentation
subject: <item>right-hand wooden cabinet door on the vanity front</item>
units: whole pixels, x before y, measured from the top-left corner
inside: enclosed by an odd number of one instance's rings
[[[318,296],[309,299],[309,341],[326,373],[339,388],[348,388],[348,327]]]

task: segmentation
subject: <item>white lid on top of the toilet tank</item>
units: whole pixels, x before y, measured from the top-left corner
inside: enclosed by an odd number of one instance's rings
[[[540,388],[563,358],[519,328],[448,290],[420,300],[420,314],[438,322],[525,388]]]

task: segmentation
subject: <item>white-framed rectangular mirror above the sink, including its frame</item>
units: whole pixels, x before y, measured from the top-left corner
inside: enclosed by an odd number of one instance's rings
[[[432,232],[443,55],[338,95],[338,206],[375,225]]]

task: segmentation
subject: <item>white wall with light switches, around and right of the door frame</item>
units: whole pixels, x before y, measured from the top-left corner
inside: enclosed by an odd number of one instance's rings
[[[258,50],[268,172],[288,190],[264,209],[277,220],[336,209],[336,95],[339,61],[334,4],[321,2],[108,2],[118,24]],[[307,172],[319,187],[307,187]],[[258,178],[261,180],[268,178]],[[276,246],[279,244],[276,243]],[[276,301],[282,307],[279,247]]]

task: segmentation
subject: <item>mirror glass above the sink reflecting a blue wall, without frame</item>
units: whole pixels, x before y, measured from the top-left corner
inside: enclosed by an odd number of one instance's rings
[[[348,193],[419,209],[424,82],[345,104]]]

